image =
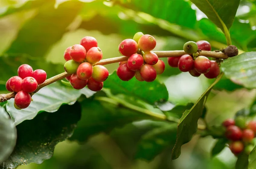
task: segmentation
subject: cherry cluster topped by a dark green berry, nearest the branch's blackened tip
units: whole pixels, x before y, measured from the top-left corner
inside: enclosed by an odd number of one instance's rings
[[[181,72],[189,72],[194,77],[204,74],[205,77],[212,79],[220,74],[219,64],[215,60],[209,60],[205,56],[197,56],[200,50],[211,51],[211,45],[208,41],[186,42],[183,50],[187,54],[168,57],[168,63],[171,67],[178,67]]]

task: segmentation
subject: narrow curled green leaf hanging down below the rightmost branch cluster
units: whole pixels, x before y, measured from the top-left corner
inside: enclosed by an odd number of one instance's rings
[[[214,83],[212,83],[203,95],[198,99],[194,106],[190,110],[186,110],[183,116],[180,118],[177,129],[177,140],[174,148],[172,149],[172,159],[176,159],[180,156],[181,146],[192,139],[192,136],[197,131],[198,119],[201,117],[204,104],[212,87],[218,83],[223,74],[220,74]]]

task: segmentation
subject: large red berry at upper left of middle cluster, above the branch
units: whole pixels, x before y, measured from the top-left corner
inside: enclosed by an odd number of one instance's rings
[[[133,39],[125,39],[118,46],[120,54],[128,57],[134,53],[137,53],[138,49],[138,44]]]

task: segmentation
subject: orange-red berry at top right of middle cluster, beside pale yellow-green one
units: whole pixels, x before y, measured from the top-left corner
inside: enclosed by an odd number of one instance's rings
[[[150,34],[144,34],[138,41],[138,46],[144,52],[153,50],[157,45],[157,41]]]

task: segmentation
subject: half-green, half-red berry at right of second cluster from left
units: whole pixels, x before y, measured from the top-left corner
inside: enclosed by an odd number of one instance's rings
[[[93,66],[93,74],[92,77],[97,82],[103,82],[108,78],[108,69],[102,65]]]

